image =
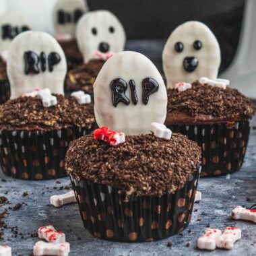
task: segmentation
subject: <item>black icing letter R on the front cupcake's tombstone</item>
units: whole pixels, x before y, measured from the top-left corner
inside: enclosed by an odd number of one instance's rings
[[[117,104],[119,104],[119,102],[123,102],[126,105],[130,104],[129,98],[125,96],[127,87],[127,83],[121,78],[114,79],[110,83],[110,89],[112,91],[112,102],[115,107]]]

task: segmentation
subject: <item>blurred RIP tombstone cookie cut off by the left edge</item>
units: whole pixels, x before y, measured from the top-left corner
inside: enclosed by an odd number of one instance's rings
[[[30,30],[29,22],[20,13],[8,12],[0,17],[0,53],[9,48],[9,44],[18,34]]]

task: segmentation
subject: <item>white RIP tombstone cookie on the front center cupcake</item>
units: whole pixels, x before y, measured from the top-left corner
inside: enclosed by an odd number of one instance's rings
[[[94,113],[99,127],[125,135],[149,133],[164,123],[167,94],[162,76],[140,53],[117,53],[103,65],[94,83]]]

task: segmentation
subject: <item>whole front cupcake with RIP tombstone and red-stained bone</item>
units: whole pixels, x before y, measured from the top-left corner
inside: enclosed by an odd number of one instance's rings
[[[117,53],[94,84],[99,129],[65,158],[84,226],[98,238],[154,241],[191,220],[201,149],[162,123],[164,81],[145,56]]]

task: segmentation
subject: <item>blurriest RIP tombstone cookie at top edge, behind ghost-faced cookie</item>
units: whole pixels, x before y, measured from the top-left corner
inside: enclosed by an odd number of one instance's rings
[[[57,38],[75,38],[77,22],[88,10],[85,0],[58,0],[53,8],[53,26]]]

